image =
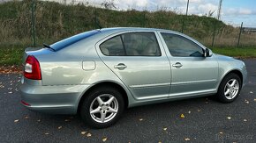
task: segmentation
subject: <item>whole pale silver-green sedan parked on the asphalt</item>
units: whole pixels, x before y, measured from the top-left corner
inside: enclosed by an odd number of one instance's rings
[[[245,63],[213,54],[182,33],[151,28],[83,32],[24,54],[21,103],[33,111],[79,113],[94,128],[125,108],[214,96],[230,103],[245,84]]]

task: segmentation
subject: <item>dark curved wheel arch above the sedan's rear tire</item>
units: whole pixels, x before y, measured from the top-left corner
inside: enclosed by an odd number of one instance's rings
[[[80,110],[80,106],[84,101],[84,98],[87,97],[87,94],[89,94],[94,89],[101,88],[102,86],[109,86],[109,87],[113,87],[113,88],[117,89],[122,94],[122,97],[124,98],[124,108],[128,107],[129,100],[128,100],[128,95],[127,95],[124,87],[119,85],[117,82],[98,82],[98,83],[94,84],[92,87],[90,87],[89,89],[87,89],[87,91],[85,93],[83,93],[83,95],[79,98],[79,104],[78,104],[78,108],[77,108],[78,113]]]

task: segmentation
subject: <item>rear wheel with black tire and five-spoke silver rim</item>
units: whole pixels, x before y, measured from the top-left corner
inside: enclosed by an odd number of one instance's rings
[[[93,89],[80,107],[80,116],[86,125],[106,128],[114,125],[124,111],[124,98],[112,87]]]

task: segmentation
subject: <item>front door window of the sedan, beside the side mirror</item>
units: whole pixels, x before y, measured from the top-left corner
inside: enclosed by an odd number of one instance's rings
[[[177,34],[162,32],[162,38],[169,49],[169,54],[177,57],[203,57],[203,49],[190,39]]]

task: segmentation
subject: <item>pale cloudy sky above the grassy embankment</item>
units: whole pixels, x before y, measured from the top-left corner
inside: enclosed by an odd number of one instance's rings
[[[108,0],[107,0],[108,1]],[[110,0],[109,0],[110,1]],[[88,0],[89,4],[101,4],[104,0]],[[187,0],[114,0],[120,10],[136,9],[139,11],[169,10],[184,13]],[[199,16],[215,11],[217,15],[219,0],[190,0],[188,14]],[[222,21],[231,25],[256,27],[256,0],[222,0]]]

